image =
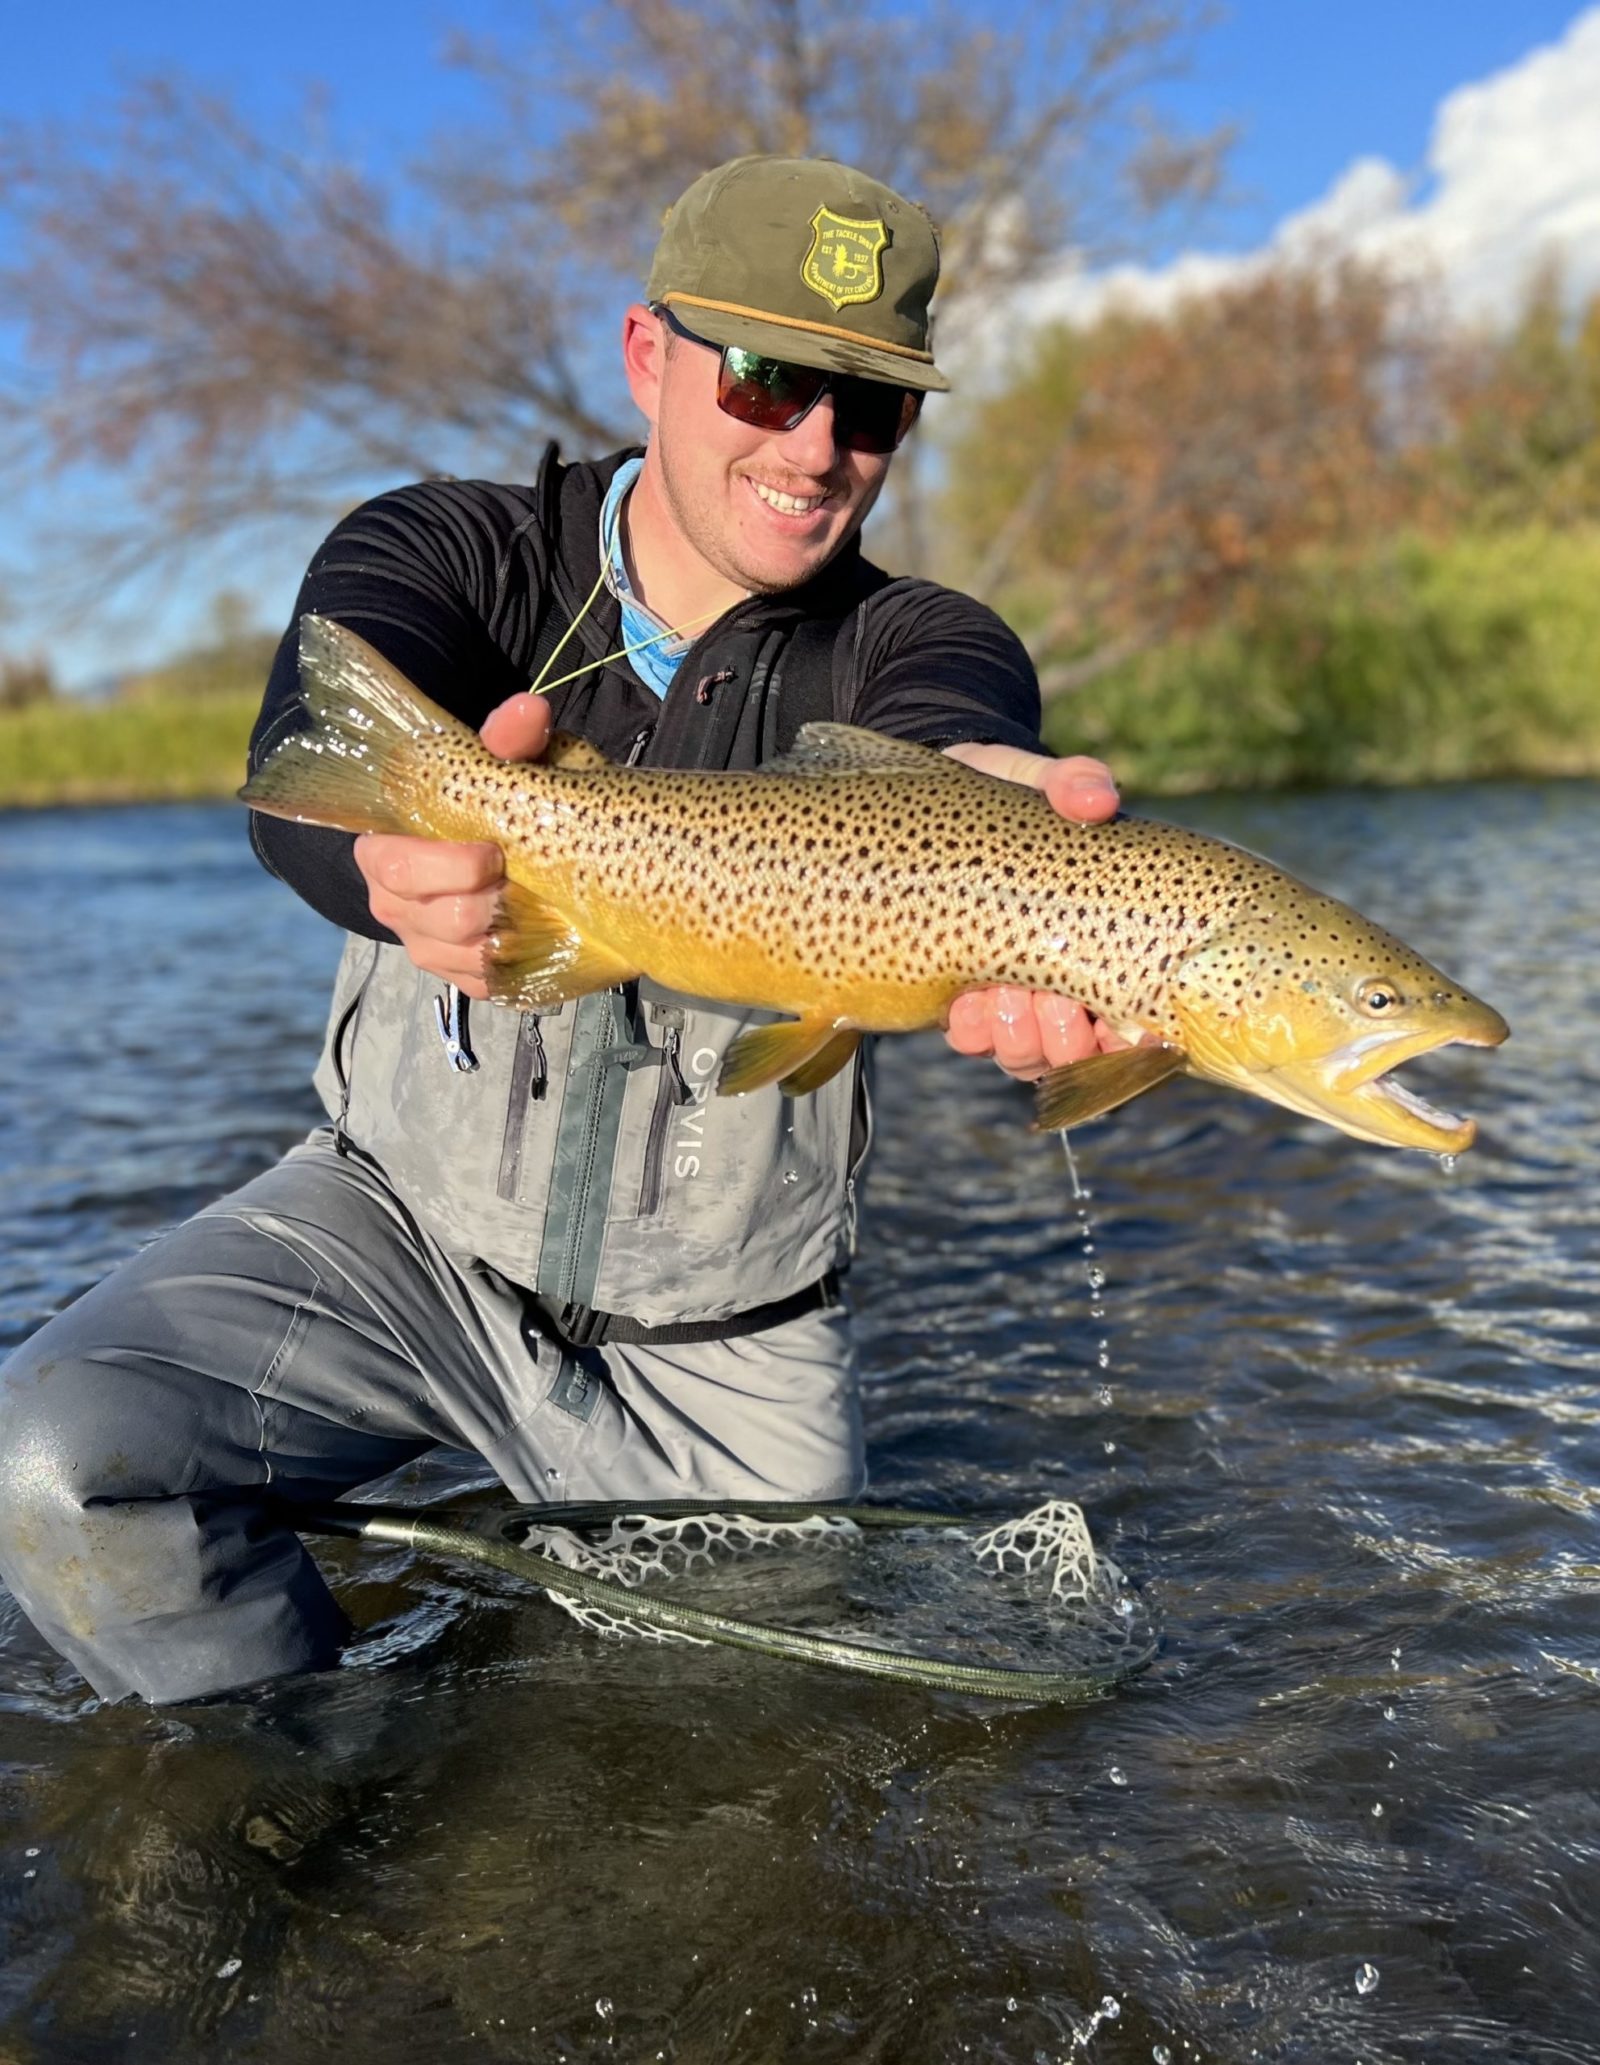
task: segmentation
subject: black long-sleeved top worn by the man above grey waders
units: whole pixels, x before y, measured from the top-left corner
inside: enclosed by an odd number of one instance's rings
[[[551,452],[526,487],[423,481],[378,496],[339,522],[295,599],[250,739],[250,766],[303,723],[297,626],[308,613],[359,632],[462,723],[481,725],[500,702],[526,690],[549,644],[545,628],[576,620],[595,586],[601,502],[628,456],[559,467]],[[687,739],[696,686],[721,671],[737,677],[741,655],[801,620],[838,624],[832,665],[840,719],[927,745],[999,741],[1041,750],[1038,681],[1016,634],[952,589],[890,580],[855,541],[803,589],[749,597],[718,617],[685,655],[665,706],[626,661],[613,661],[555,692],[557,723],[617,756],[650,729],[659,737],[648,760],[706,764],[673,752],[694,752]],[[619,642],[619,609],[603,591],[553,673],[605,659]],[[367,909],[349,832],[252,814],[250,836],[264,865],[332,923],[392,940]]]

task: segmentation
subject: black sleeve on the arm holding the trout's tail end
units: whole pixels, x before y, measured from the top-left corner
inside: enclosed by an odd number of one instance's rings
[[[326,537],[299,586],[266,696],[250,735],[250,772],[308,723],[299,702],[299,620],[345,624],[417,688],[481,725],[526,688],[491,634],[506,589],[508,555],[526,545],[531,491],[477,481],[425,481],[363,504]],[[526,582],[518,584],[526,591]],[[262,865],[314,911],[367,940],[392,942],[372,917],[351,832],[250,814],[250,845]]]

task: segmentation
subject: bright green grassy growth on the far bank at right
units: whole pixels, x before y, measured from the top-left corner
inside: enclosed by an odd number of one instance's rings
[[[1249,624],[1123,663],[1045,731],[1146,793],[1600,774],[1600,531],[1301,562]]]

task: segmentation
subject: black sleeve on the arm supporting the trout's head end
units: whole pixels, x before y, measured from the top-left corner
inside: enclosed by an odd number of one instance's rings
[[[861,611],[851,723],[919,745],[1045,752],[1038,675],[993,609],[931,580],[894,580]]]

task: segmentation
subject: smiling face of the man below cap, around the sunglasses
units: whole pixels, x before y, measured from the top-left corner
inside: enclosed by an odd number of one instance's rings
[[[716,407],[721,353],[673,337],[659,316],[654,353],[628,351],[634,401],[650,421],[661,500],[683,541],[725,580],[751,593],[795,589],[861,529],[890,471],[890,452],[834,444],[830,394],[789,432],[756,430]]]

